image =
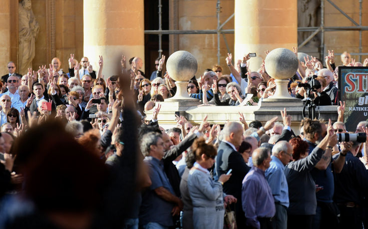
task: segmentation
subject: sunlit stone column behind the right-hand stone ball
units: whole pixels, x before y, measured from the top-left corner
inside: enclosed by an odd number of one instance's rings
[[[250,69],[258,70],[265,50],[297,46],[297,0],[235,0],[235,57],[256,52]]]

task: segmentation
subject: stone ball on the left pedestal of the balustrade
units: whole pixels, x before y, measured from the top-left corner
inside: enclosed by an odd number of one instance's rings
[[[189,81],[197,72],[196,58],[187,51],[176,51],[166,62],[167,73],[176,81]]]

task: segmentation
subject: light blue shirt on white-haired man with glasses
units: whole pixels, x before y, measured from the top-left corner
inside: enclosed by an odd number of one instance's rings
[[[285,166],[277,157],[271,156],[271,158],[272,161],[270,162],[270,167],[266,170],[264,176],[272,190],[275,203],[279,203],[288,208],[289,191],[284,173]]]

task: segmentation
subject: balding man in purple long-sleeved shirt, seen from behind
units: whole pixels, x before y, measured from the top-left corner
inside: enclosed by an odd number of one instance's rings
[[[271,229],[271,218],[275,215],[275,203],[264,173],[270,167],[271,155],[268,148],[253,152],[253,167],[244,177],[241,191],[246,225],[249,228]]]

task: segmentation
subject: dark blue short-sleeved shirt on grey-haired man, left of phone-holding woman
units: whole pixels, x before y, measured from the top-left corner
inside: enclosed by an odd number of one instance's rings
[[[159,197],[155,189],[163,187],[175,196],[169,179],[164,171],[163,161],[153,157],[146,157],[144,163],[150,170],[150,179],[152,185],[142,195],[142,205],[139,213],[139,225],[148,223],[158,223],[164,227],[173,226],[172,209],[173,203],[167,202]]]

